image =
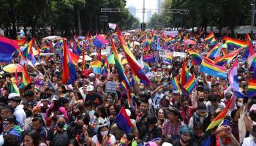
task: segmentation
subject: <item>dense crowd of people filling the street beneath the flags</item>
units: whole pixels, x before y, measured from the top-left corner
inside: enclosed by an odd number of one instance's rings
[[[140,42],[141,37],[138,34],[131,33],[131,36],[126,37],[127,41],[129,38]],[[111,35],[115,38],[115,34]],[[155,41],[152,44],[157,45],[157,39],[154,39],[157,37],[160,45],[165,45],[166,37],[162,31],[151,31],[147,35],[146,39]],[[187,56],[173,57],[170,64],[165,64],[161,57],[158,61],[148,63],[150,84],[135,81],[132,85],[131,66],[123,64],[127,79],[131,82],[129,97],[132,107],[129,106],[127,95],[121,87],[117,86],[114,92],[105,90],[106,82],[119,82],[115,64],[110,64],[109,74],[105,76],[95,73],[90,61],[86,62],[84,70],[79,63],[75,66],[78,76],[75,82],[63,85],[61,55],[50,58],[38,55],[35,56],[37,64],[26,64],[32,82],[20,88],[19,93],[11,93],[10,90],[15,73],[1,70],[0,145],[256,145],[256,100],[236,98],[227,79],[199,72],[200,65],[192,63],[193,58],[187,53],[187,48],[197,50],[198,53],[207,52],[210,48],[203,42],[202,34],[181,35],[195,40],[197,44],[177,46],[175,51],[186,53]],[[105,39],[108,39],[110,45],[110,34]],[[219,38],[217,42],[223,41]],[[67,44],[72,47],[68,41]],[[141,55],[153,54],[155,50],[152,44],[146,51],[143,44],[134,45],[132,53],[135,58],[139,60]],[[105,50],[108,45],[101,49]],[[125,56],[118,38],[115,45],[118,53]],[[61,47],[60,45],[55,49]],[[165,50],[173,50],[173,46],[166,46]],[[86,54],[94,52],[97,52],[97,47],[89,45]],[[240,91],[246,95],[252,72],[241,61],[241,55],[237,56],[240,64],[238,82]],[[96,55],[92,61],[97,59]],[[181,91],[176,91],[170,82],[180,74],[183,61],[187,62],[189,74],[195,74],[198,82],[190,93],[182,86]],[[12,63],[19,64],[20,57],[14,55]],[[230,67],[230,64],[227,66]],[[17,74],[17,84],[20,84],[23,75],[20,72]],[[38,80],[42,81],[39,88],[35,83]],[[225,110],[230,100],[234,101],[223,122],[220,121],[217,126],[208,130],[208,126]],[[115,119],[122,107],[132,123],[129,133],[116,124]],[[239,120],[244,121],[245,127],[242,128],[246,128],[246,133],[239,130]]]

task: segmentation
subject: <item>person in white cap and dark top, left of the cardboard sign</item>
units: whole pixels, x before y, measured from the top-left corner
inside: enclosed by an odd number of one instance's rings
[[[86,99],[85,101],[92,101],[94,106],[100,105],[103,103],[103,99],[102,96],[99,95],[99,93],[94,92],[94,86],[93,85],[89,85],[86,88]]]

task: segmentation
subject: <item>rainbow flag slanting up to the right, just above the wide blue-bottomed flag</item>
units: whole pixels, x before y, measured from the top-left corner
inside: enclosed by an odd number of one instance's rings
[[[230,64],[230,62],[233,60],[233,58],[235,58],[236,55],[238,55],[238,53],[240,53],[242,49],[243,48],[240,48],[240,49],[234,50],[232,53],[230,53],[228,55],[215,58],[214,61],[218,66],[223,66],[223,64],[225,64],[225,63]]]

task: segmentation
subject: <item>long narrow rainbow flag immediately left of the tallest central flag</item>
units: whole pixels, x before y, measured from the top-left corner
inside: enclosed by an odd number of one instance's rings
[[[121,59],[118,56],[118,52],[116,50],[116,46],[115,46],[115,44],[113,42],[112,37],[110,37],[110,39],[111,39],[110,42],[111,42],[111,47],[112,47],[112,51],[113,51],[114,60],[116,62],[116,70],[118,72],[118,80],[119,80],[119,82],[122,82],[123,80],[125,80],[125,82],[129,86],[129,81],[127,79],[127,76],[124,73],[124,67],[121,64]]]

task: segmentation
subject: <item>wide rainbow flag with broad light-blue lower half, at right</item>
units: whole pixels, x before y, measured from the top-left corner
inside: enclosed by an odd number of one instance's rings
[[[217,66],[215,64],[211,64],[210,62],[203,60],[202,64],[200,66],[200,72],[204,72],[208,75],[214,76],[214,77],[220,77],[227,79],[227,72],[225,72],[226,69],[222,66]]]

